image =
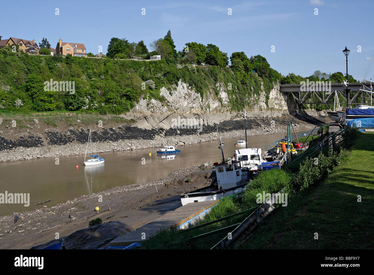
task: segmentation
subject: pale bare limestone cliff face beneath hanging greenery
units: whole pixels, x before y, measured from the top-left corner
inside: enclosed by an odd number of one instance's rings
[[[160,95],[165,101],[140,99],[135,107],[124,116],[135,119],[135,126],[144,129],[172,127],[173,119],[196,118],[203,119],[205,125],[214,125],[223,120],[241,119],[240,113],[230,111],[230,100],[223,83],[217,83],[218,95],[213,89],[203,99],[188,84],[181,81],[170,91],[165,87],[160,89]],[[252,88],[253,89],[253,88]],[[254,94],[247,100],[248,117],[274,117],[288,114],[294,106],[287,99],[287,95],[279,92],[277,83],[270,91],[266,105],[266,97],[263,85],[259,95]]]

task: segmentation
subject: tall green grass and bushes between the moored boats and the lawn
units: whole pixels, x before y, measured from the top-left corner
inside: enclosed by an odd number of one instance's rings
[[[343,162],[349,155],[355,139],[358,136],[357,128],[347,128],[343,133],[343,140],[336,148],[326,148],[322,150],[315,163],[315,156],[305,159],[298,169],[297,173],[286,169],[271,169],[264,171],[248,185],[244,195],[240,198],[221,199],[212,210],[198,224],[208,223],[229,215],[239,213],[240,211],[258,206],[256,203],[257,194],[278,193],[283,190],[288,194],[288,201],[297,200],[299,196],[304,195],[310,187],[321,183],[323,179],[332,172],[334,167]],[[313,157],[313,158],[312,158]],[[277,205],[279,207],[279,205]],[[282,211],[282,209],[279,209]],[[278,213],[279,213],[278,211]],[[247,213],[233,216],[230,219],[222,220],[217,223],[191,230],[162,229],[154,236],[144,242],[142,248],[156,249],[209,249],[226,236],[227,232],[217,232],[204,238],[189,240],[194,236],[221,229],[232,224],[240,223]]]

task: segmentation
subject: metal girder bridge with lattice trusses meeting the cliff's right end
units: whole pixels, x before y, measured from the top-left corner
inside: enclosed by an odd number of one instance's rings
[[[283,94],[291,94],[299,104],[332,104],[330,100],[340,95],[349,106],[365,103],[373,105],[374,96],[370,88],[371,83],[347,83],[347,86],[345,83],[331,83],[330,86],[327,82],[321,85],[322,81],[321,83],[316,82],[315,85],[311,83],[312,82],[309,83],[308,81],[304,85],[280,85],[280,91]],[[356,93],[353,95],[352,92]],[[359,97],[360,95],[363,96]],[[366,95],[368,95],[368,97],[366,97]]]

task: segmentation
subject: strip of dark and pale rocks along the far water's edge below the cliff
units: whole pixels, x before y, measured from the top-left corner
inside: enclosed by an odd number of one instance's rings
[[[313,128],[326,124],[330,119],[319,113],[283,114],[276,117],[249,117],[247,119],[247,135],[274,134],[286,131],[286,124],[291,121],[295,130]],[[206,124],[206,125],[205,125]],[[184,146],[219,138],[217,124],[205,122],[202,131],[196,129],[142,129],[137,126],[114,124],[109,128],[98,128],[89,125],[87,128],[47,128],[38,125],[33,130],[22,132],[12,129],[7,135],[0,136],[0,162],[22,159],[49,158],[58,156],[82,155],[86,151],[89,128],[92,132],[92,151],[95,153],[136,150],[143,148],[162,147],[165,144]],[[44,129],[44,128],[45,129]],[[44,129],[44,131],[43,131]],[[225,120],[218,127],[222,138],[242,137],[243,119]],[[24,131],[24,129],[23,129]]]

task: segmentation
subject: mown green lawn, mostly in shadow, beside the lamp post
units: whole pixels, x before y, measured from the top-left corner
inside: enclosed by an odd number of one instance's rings
[[[359,133],[323,183],[276,208],[237,248],[373,249],[373,213],[374,133]]]

